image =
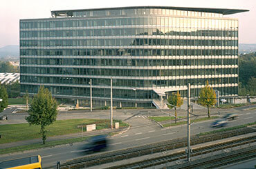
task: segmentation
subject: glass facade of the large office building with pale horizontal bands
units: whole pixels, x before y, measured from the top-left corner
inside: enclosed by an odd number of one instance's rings
[[[149,107],[154,89],[187,83],[198,97],[206,80],[221,96],[237,95],[237,19],[163,8],[68,14],[20,21],[21,92],[44,85],[87,105],[92,79],[94,105],[109,105],[112,77],[114,106]]]

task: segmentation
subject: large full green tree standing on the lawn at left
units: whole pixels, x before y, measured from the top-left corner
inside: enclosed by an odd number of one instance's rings
[[[42,134],[42,141],[46,141],[46,126],[49,126],[57,117],[57,101],[53,99],[51,92],[44,86],[39,88],[37,95],[35,95],[30,108],[28,110],[28,117],[26,121],[30,125],[41,126],[40,133]]]

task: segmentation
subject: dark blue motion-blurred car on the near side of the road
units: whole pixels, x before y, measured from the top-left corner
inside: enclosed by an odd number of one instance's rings
[[[89,141],[82,148],[84,151],[97,152],[108,147],[107,135],[98,135],[91,137]]]

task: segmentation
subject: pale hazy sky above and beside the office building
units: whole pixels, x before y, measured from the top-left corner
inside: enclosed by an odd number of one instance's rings
[[[176,6],[244,9],[228,14],[239,19],[239,43],[256,43],[256,0],[1,0],[0,48],[19,45],[19,19],[51,17],[51,10],[113,8],[125,6]]]

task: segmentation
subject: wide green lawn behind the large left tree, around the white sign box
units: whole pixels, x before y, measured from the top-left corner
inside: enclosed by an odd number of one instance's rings
[[[127,123],[114,120],[113,123],[119,122],[120,128],[127,126]],[[46,127],[47,137],[57,135],[68,135],[71,133],[81,132],[81,126],[84,126],[86,131],[87,124],[96,124],[96,130],[110,128],[110,121],[107,119],[68,119],[55,121],[50,126]],[[80,127],[78,127],[80,126]],[[6,124],[0,125],[0,143],[11,143],[16,141],[24,141],[29,139],[41,138],[40,126],[29,126],[28,123]]]

